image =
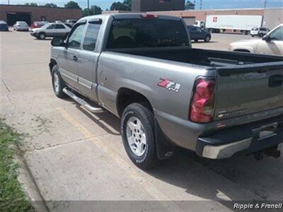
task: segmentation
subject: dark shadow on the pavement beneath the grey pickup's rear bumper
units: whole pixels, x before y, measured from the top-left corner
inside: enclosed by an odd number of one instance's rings
[[[231,201],[282,201],[282,165],[282,158],[257,161],[253,156],[243,156],[209,160],[181,150],[147,173],[185,189],[187,194],[218,201],[233,211]]]

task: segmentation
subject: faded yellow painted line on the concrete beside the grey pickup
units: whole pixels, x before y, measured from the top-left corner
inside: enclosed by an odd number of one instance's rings
[[[160,192],[156,187],[154,187],[151,183],[147,182],[147,180],[142,177],[142,173],[139,173],[132,168],[129,163],[127,163],[126,160],[120,157],[120,155],[117,155],[115,151],[113,151],[111,148],[109,148],[103,141],[100,141],[96,137],[93,137],[94,135],[91,133],[91,131],[88,131],[86,127],[84,127],[82,124],[80,124],[76,119],[71,117],[70,114],[68,114],[62,107],[58,107],[57,110],[59,111],[60,114],[62,114],[62,117],[67,119],[68,122],[76,126],[77,129],[86,136],[86,138],[89,138],[90,141],[92,141],[98,148],[103,150],[109,157],[112,158],[112,160],[117,163],[123,170],[127,172],[127,174],[132,177],[135,181],[139,182],[141,184],[141,187],[146,190],[154,199],[156,200],[165,200],[165,201],[170,201],[166,195],[164,195],[162,192]],[[90,138],[91,137],[91,138]],[[142,171],[141,171],[142,172]],[[175,204],[173,204],[174,207]]]

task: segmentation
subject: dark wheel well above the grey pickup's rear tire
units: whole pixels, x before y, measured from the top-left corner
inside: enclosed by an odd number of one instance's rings
[[[122,117],[125,108],[134,102],[139,102],[151,112],[154,112],[151,103],[144,95],[129,88],[120,88],[117,95],[117,112],[119,116]]]

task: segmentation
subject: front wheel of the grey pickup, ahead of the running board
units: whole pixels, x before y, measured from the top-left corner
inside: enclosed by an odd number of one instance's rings
[[[54,65],[52,68],[52,87],[57,98],[67,97],[67,95],[63,92],[63,88],[65,88],[66,85],[64,81],[62,81],[57,65]]]

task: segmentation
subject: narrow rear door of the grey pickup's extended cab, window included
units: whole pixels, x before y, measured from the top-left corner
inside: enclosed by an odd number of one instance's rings
[[[79,91],[93,101],[97,101],[97,76],[96,67],[100,52],[96,48],[98,33],[100,32],[102,20],[89,20],[86,33],[83,38],[82,50],[79,54]]]

